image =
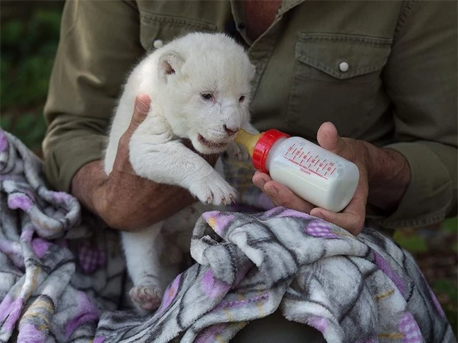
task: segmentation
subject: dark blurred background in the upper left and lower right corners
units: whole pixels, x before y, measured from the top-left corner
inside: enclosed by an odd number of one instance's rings
[[[59,39],[63,1],[0,1],[0,126],[40,157],[42,111]],[[457,334],[457,218],[396,232],[416,257]]]

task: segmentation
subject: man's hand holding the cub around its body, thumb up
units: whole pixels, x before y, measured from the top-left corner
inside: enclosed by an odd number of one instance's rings
[[[80,168],[71,182],[71,193],[116,229],[142,229],[196,201],[183,188],[137,176],[130,165],[130,137],[146,118],[150,103],[149,96],[137,96],[130,125],[119,140],[110,175],[105,174],[103,161],[93,161]]]

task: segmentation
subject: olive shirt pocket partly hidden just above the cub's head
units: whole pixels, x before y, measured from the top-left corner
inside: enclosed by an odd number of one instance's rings
[[[216,25],[203,21],[140,11],[140,44],[147,52],[187,33],[216,30]]]

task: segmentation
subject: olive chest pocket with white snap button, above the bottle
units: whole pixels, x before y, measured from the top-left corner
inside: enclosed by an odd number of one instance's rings
[[[391,43],[359,35],[300,33],[287,107],[291,129],[315,138],[321,123],[331,121],[340,135],[357,138],[382,89],[380,73]]]

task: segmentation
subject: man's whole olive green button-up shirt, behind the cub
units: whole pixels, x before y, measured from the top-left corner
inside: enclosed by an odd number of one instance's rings
[[[44,109],[45,173],[71,178],[101,159],[128,72],[193,30],[226,32],[257,74],[253,124],[314,140],[339,134],[398,150],[411,182],[384,227],[439,222],[457,207],[457,2],[283,1],[254,42],[241,1],[67,1]]]

